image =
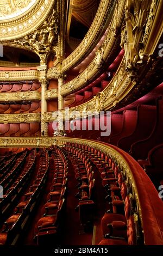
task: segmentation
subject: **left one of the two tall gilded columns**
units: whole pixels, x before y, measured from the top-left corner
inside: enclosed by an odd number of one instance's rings
[[[45,98],[45,92],[47,90],[47,66],[39,66],[37,68],[40,71],[40,83],[41,83],[41,136],[48,136],[48,124],[45,122],[44,114],[47,112],[47,101]]]

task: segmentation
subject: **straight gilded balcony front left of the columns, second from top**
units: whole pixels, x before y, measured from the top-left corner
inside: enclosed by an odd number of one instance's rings
[[[37,91],[21,93],[0,93],[0,102],[41,101],[41,93]]]

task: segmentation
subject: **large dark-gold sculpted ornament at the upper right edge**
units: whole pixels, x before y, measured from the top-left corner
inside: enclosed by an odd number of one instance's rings
[[[124,47],[125,50],[126,69],[129,72],[141,69],[151,58],[149,54],[150,47],[148,47],[146,52],[144,49],[154,22],[156,5],[158,2],[162,1],[127,0],[126,2],[126,24],[124,25],[121,33],[121,46]],[[161,12],[162,10],[160,8],[159,15]],[[159,27],[162,29],[162,26]],[[160,33],[155,33],[155,35],[153,34],[153,37],[151,38],[152,44],[153,39],[155,40],[155,38],[160,38],[160,36]],[[156,47],[156,45],[154,45],[154,47]]]

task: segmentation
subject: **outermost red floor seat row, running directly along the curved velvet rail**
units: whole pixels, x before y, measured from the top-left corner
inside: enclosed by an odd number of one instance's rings
[[[79,151],[95,164],[105,188],[108,211],[101,220],[104,239],[99,245],[137,245],[143,243],[137,206],[126,177],[111,157],[86,145],[69,143],[65,150]],[[89,181],[87,181],[89,184]],[[88,198],[87,198],[88,199]],[[90,213],[91,216],[91,213]]]

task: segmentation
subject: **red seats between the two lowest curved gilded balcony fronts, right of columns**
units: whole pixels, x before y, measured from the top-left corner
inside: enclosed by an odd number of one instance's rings
[[[118,66],[120,65],[122,58],[124,55],[124,50],[121,50],[118,56],[115,58],[114,62],[108,67],[108,70],[104,72],[100,77],[98,77],[95,81],[93,81],[89,86],[85,87],[82,90],[79,90],[77,94],[75,94],[74,102],[71,103],[68,107],[79,106],[93,98],[93,96],[97,95],[99,92],[105,89],[108,86],[109,81],[112,76],[114,76]],[[108,74],[110,76],[108,77]]]

